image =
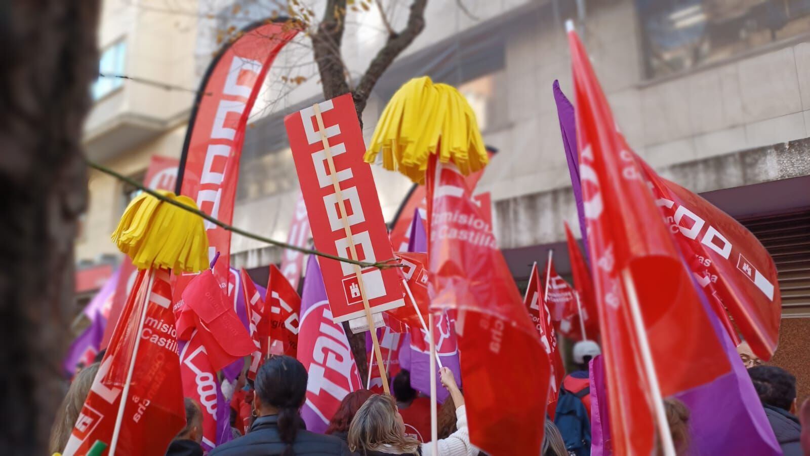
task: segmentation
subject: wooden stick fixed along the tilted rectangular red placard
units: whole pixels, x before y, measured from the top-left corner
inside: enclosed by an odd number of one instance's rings
[[[346,215],[346,204],[343,203],[343,192],[340,191],[340,183],[338,182],[338,174],[335,170],[335,160],[332,158],[332,152],[329,146],[329,138],[326,136],[326,127],[323,125],[323,116],[321,115],[321,106],[318,103],[313,105],[315,118],[318,121],[318,130],[321,133],[321,142],[323,144],[323,152],[326,155],[326,163],[329,165],[329,173],[332,178],[332,186],[335,187],[335,196],[338,200],[338,208],[340,209],[340,221],[343,222],[343,230],[346,231],[346,238],[349,243],[349,253],[352,255],[352,260],[357,260],[357,249],[352,237],[352,228],[349,226],[348,217]],[[386,367],[382,364],[382,352],[380,351],[380,342],[377,340],[377,328],[374,325],[373,316],[371,316],[371,308],[369,306],[369,297],[365,292],[365,284],[363,282],[363,271],[360,265],[353,264],[355,275],[357,277],[357,284],[360,286],[360,297],[363,299],[363,309],[365,311],[365,319],[369,323],[369,331],[371,331],[371,342],[374,346],[374,356],[377,357],[377,368],[380,370],[380,379],[382,380],[382,390],[386,394],[391,394],[388,386],[388,374]]]

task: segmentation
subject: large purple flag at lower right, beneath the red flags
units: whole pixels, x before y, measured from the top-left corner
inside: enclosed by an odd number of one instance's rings
[[[691,274],[690,274],[691,275]],[[676,394],[689,407],[691,454],[782,454],[748,372],[726,330],[714,316],[701,286],[693,279],[706,315],[720,339],[731,372],[695,389]]]

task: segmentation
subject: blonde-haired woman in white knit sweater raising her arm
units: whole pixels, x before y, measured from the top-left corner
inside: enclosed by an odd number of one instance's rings
[[[441,384],[445,386],[456,408],[458,430],[437,441],[442,456],[475,456],[478,449],[470,443],[464,397],[456,385],[453,372],[441,368]],[[420,443],[405,435],[405,423],[397,403],[389,395],[375,394],[357,411],[349,425],[349,450],[360,456],[389,456],[390,454],[432,455],[432,443]]]

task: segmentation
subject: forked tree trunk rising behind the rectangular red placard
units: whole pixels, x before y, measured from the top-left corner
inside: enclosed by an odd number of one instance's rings
[[[360,82],[353,90],[349,87],[346,66],[340,54],[343,43],[343,29],[346,24],[347,0],[329,0],[323,19],[318,24],[318,32],[312,36],[315,62],[321,76],[323,96],[326,100],[352,92],[360,127],[363,127],[363,110],[369,96],[382,74],[390,67],[394,59],[424,30],[424,9],[428,0],[413,0],[407,24],[401,32],[391,31],[386,44],[377,52],[369,68],[366,69]],[[381,14],[384,14],[382,10]],[[388,21],[386,19],[386,25]],[[355,356],[360,378],[365,382],[369,372],[369,360],[365,356],[365,333],[352,334],[347,324],[343,325],[349,338],[349,345]]]

